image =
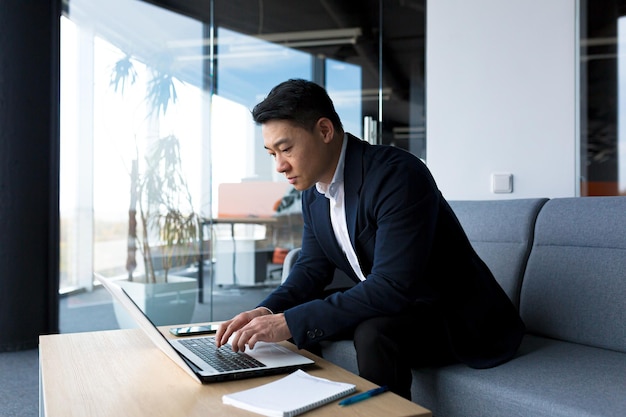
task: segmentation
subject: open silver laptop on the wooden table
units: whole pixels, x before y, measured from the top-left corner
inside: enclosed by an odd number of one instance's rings
[[[278,343],[258,342],[254,349],[233,352],[230,344],[217,349],[215,336],[168,339],[122,287],[100,274],[94,275],[111,293],[113,299],[128,311],[150,340],[198,382],[230,381],[287,373],[314,364],[313,360]]]

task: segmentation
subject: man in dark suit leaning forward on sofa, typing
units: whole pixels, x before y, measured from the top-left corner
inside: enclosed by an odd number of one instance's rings
[[[302,249],[279,288],[220,326],[218,345],[351,337],[359,374],[406,398],[411,367],[514,355],[524,324],[418,158],[344,133],[309,81],[279,84],[252,114],[276,170],[303,191]],[[326,296],[336,268],[355,285]]]

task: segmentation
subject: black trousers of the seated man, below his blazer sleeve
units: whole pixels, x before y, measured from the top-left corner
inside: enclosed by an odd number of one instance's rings
[[[398,316],[375,317],[353,335],[359,375],[411,399],[411,368],[455,362],[441,314],[423,304]]]

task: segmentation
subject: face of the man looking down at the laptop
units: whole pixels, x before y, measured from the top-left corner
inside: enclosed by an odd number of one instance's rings
[[[286,120],[271,120],[262,126],[265,149],[276,160],[276,171],[285,174],[296,190],[306,190],[316,182],[330,183],[335,173],[333,128],[320,119],[312,132]]]

